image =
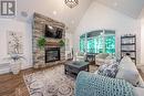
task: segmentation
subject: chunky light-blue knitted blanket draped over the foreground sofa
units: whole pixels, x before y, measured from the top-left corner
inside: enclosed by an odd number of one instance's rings
[[[133,86],[124,79],[81,72],[76,77],[75,96],[134,96]]]

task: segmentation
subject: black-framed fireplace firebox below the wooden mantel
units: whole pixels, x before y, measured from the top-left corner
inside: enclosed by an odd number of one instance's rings
[[[60,61],[60,47],[45,49],[45,63]]]

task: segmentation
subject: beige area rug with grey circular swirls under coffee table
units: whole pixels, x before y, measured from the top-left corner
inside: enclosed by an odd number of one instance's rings
[[[95,67],[91,66],[91,72]],[[30,96],[74,96],[75,78],[64,74],[64,66],[23,76]]]

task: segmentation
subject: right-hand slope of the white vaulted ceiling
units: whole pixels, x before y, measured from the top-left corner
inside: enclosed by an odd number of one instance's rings
[[[131,18],[140,18],[141,11],[144,8],[144,0],[96,0],[123,14]]]

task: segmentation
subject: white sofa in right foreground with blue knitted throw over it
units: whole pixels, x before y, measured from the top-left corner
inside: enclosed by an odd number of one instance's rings
[[[92,75],[93,74],[93,75]],[[111,77],[104,77],[104,76],[97,76],[97,71],[95,73],[80,73],[78,78],[76,78],[76,86],[75,86],[75,96],[101,96],[97,95],[99,94],[103,94],[103,93],[113,93],[113,89],[107,89],[105,88],[106,86],[106,82],[112,83],[114,81],[114,85],[116,84],[122,84],[122,81],[124,81],[124,84],[119,85],[125,88],[127,88],[127,86],[130,87],[130,93],[133,93],[132,96],[144,96],[144,81],[142,79],[135,64],[132,62],[132,60],[128,56],[124,56],[119,65],[119,72],[115,76],[115,78],[111,78]],[[97,77],[101,78],[101,85],[96,86],[99,83]],[[85,81],[86,79],[86,81]],[[94,81],[91,81],[94,79]],[[102,85],[105,84],[105,85]],[[126,86],[126,87],[125,87]],[[114,87],[113,85],[111,85],[110,88]],[[122,88],[119,87],[119,88]],[[81,89],[80,89],[81,88]],[[86,89],[89,88],[89,89]],[[101,93],[101,89],[103,89],[103,93]],[[106,90],[106,92],[105,92]],[[123,90],[123,89],[122,89]],[[86,94],[86,93],[88,94]],[[131,94],[128,93],[128,95],[116,95],[116,96],[131,96]],[[113,95],[105,95],[105,96],[113,96]]]

